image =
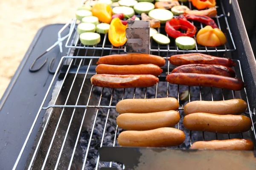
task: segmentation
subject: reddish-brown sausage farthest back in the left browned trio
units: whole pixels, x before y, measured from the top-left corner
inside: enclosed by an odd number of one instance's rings
[[[158,66],[165,65],[165,59],[151,54],[114,54],[100,57],[97,64],[109,65],[137,65],[154,64]]]

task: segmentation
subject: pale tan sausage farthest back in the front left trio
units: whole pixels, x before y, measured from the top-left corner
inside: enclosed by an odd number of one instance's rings
[[[173,97],[157,99],[124,99],[116,104],[116,111],[119,114],[176,111],[178,108],[178,100]]]

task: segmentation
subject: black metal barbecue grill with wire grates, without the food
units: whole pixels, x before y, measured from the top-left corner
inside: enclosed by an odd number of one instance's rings
[[[194,9],[190,2],[181,3]],[[180,50],[171,40],[169,45],[160,45],[151,40],[150,53],[167,59],[174,54],[200,52],[219,57],[229,57],[236,62],[234,70],[247,87],[242,91],[229,91],[210,87],[190,87],[172,85],[165,81],[166,75],[175,66],[166,62],[159,76],[160,82],[149,88],[109,89],[90,84],[90,77],[96,74],[95,67],[99,57],[110,54],[124,54],[125,46],[115,48],[108,41],[108,35],[101,34],[101,42],[94,46],[84,46],[76,33],[76,20],[70,23],[70,36],[66,47],[67,56],[62,57],[50,83],[49,89],[35,116],[31,129],[13,169],[181,169],[195,166],[197,169],[253,169],[256,167],[254,151],[212,151],[189,150],[193,142],[213,139],[251,139],[256,144],[255,124],[251,130],[240,134],[219,134],[195,132],[183,127],[183,105],[194,100],[244,99],[248,104],[247,112],[252,122],[255,119],[256,101],[256,62],[245,32],[243,20],[236,0],[217,0],[218,16],[214,18],[218,27],[227,37],[226,45],[216,48],[196,45],[195,50]],[[138,17],[140,17],[138,15]],[[192,22],[197,28],[204,25]],[[164,25],[158,32],[166,34]],[[168,35],[167,35],[168,36]],[[194,37],[195,38],[195,37]],[[57,82],[56,82],[57,80]],[[56,84],[54,83],[56,82]],[[53,93],[49,91],[53,89]],[[188,90],[188,101],[180,95]],[[128,98],[175,97],[180,103],[178,109],[181,119],[175,126],[183,130],[186,140],[178,147],[139,148],[119,147],[116,141],[120,129],[115,122],[118,113],[115,105]],[[47,98],[52,98],[46,103]],[[40,119],[39,115],[44,115]],[[34,128],[40,121],[41,127]],[[38,130],[35,139],[30,138]],[[26,164],[20,159],[29,140],[30,154]],[[256,145],[255,145],[256,146]],[[187,162],[187,163],[185,163]],[[224,164],[225,163],[225,164]],[[172,168],[170,168],[172,167]]]

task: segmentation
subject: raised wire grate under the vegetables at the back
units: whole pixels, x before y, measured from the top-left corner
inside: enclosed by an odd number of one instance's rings
[[[92,0],[91,0],[92,1]],[[183,3],[181,2],[181,5]],[[192,6],[191,2],[184,3],[184,5],[188,6],[190,9],[195,9],[195,7]],[[154,42],[151,40],[151,45],[150,45],[150,51],[161,51],[161,52],[167,52],[167,51],[172,51],[172,52],[224,52],[224,51],[235,51],[236,46],[232,37],[232,33],[230,31],[229,24],[227,22],[227,14],[224,11],[224,7],[222,4],[222,0],[220,1],[220,4],[218,4],[220,7],[218,8],[218,16],[213,18],[215,20],[215,23],[217,23],[218,27],[220,30],[224,32],[224,34],[227,37],[227,42],[225,45],[221,45],[218,47],[206,47],[202,45],[196,44],[195,50],[181,50],[177,48],[174,38],[171,37],[171,43],[169,45],[160,45],[157,42]],[[140,17],[139,14],[137,14],[137,17]],[[141,19],[141,17],[140,17]],[[220,24],[222,23],[222,25]],[[192,22],[198,29],[201,29],[204,27],[202,23],[198,22]],[[158,28],[158,32],[161,34],[166,34],[164,31],[164,24],[161,24],[161,27]],[[121,46],[119,48],[113,47],[111,43],[108,40],[108,34],[101,34],[102,40],[100,44],[98,45],[89,45],[85,46],[80,43],[79,36],[76,33],[76,26],[73,26],[71,28],[72,34],[70,34],[70,37],[68,37],[66,47],[67,48],[80,48],[80,49],[96,49],[96,50],[116,50],[116,51],[125,51],[125,45]],[[166,34],[168,37],[168,34]],[[194,36],[195,39],[195,36]]]

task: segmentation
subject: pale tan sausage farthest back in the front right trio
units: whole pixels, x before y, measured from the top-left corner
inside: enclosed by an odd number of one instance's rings
[[[184,106],[184,113],[241,114],[247,110],[247,103],[242,99],[222,101],[193,101]]]

